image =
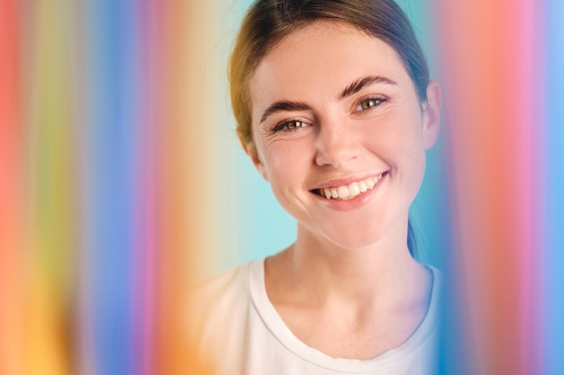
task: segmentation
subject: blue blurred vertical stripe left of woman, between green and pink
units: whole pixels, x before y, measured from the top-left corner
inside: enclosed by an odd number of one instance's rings
[[[87,245],[93,285],[95,363],[101,374],[132,374],[133,155],[136,119],[134,5],[85,6],[88,187]]]

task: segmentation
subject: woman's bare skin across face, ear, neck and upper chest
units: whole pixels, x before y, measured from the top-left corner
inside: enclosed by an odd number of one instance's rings
[[[347,92],[363,77],[368,84]],[[263,58],[250,94],[255,143],[247,151],[298,226],[296,243],[265,263],[278,315],[332,357],[367,360],[404,344],[432,289],[405,239],[424,152],[438,133],[438,85],[420,103],[386,43],[317,22]],[[284,101],[297,105],[272,105]],[[319,194],[378,175],[374,189],[350,199]]]

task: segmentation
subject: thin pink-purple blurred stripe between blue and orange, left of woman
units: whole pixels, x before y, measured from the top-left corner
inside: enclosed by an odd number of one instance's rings
[[[139,254],[134,255],[136,268],[134,272],[134,306],[132,313],[137,320],[134,327],[135,335],[139,340],[134,343],[136,366],[135,373],[153,373],[154,351],[154,306],[155,299],[155,261],[156,261],[156,225],[157,210],[155,209],[157,196],[156,181],[156,117],[157,100],[156,74],[157,59],[159,54],[155,48],[158,42],[157,27],[157,1],[147,0],[137,8],[138,11],[138,42],[140,70],[140,131],[138,138],[138,153],[136,176],[139,179],[137,186],[136,207],[139,210],[136,222],[136,236]]]

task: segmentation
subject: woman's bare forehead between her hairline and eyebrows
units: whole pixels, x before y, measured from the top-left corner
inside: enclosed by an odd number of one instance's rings
[[[338,94],[352,81],[375,75],[413,87],[402,59],[383,40],[348,24],[314,22],[289,34],[259,62],[250,79],[252,112],[267,100]]]

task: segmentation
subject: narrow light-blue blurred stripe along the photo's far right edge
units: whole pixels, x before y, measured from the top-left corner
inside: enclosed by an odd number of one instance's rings
[[[547,0],[545,132],[544,374],[564,373],[564,2]]]

